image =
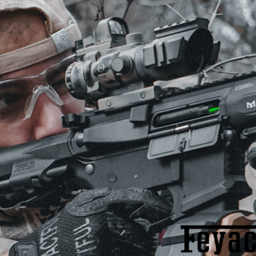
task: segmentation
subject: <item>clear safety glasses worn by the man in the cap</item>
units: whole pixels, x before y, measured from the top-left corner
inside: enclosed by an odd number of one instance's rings
[[[30,118],[40,94],[45,93],[56,105],[74,100],[66,89],[66,68],[75,62],[75,56],[62,59],[41,74],[13,78],[0,82],[0,125]]]

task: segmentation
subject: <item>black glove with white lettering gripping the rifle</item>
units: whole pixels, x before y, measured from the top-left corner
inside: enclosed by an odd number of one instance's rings
[[[142,224],[170,217],[172,204],[148,190],[89,190],[10,248],[10,256],[153,255]]]

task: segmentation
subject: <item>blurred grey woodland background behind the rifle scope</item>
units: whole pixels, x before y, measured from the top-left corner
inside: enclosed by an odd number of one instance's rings
[[[212,18],[218,6],[218,0],[64,0],[64,3],[78,21],[83,38],[93,33],[102,17],[123,18],[128,2],[130,9],[126,22],[130,33],[141,32],[144,41],[154,40],[154,28],[182,22],[171,6],[186,20],[195,18]],[[218,6],[218,15],[214,18],[210,31],[214,41],[221,42],[218,62],[228,58],[256,53],[256,1],[255,0],[222,0]],[[167,6],[168,5],[168,6]],[[103,10],[103,12],[102,12]],[[104,15],[104,16],[103,16]],[[255,70],[256,58],[246,58],[218,68],[234,73],[248,73]],[[210,74],[211,79],[230,77],[228,74]],[[194,78],[178,79],[174,86],[193,86]]]

